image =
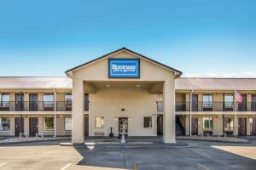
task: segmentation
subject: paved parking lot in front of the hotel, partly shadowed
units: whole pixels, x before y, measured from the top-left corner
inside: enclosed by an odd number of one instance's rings
[[[91,145],[59,146],[58,142],[0,145],[0,169],[255,169],[252,144],[199,141],[169,147]]]

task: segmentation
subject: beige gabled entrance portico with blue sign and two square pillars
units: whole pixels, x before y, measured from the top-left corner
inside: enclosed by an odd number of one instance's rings
[[[158,100],[163,101],[164,142],[176,142],[174,80],[180,71],[121,48],[79,65],[67,75],[73,78],[73,144],[84,143],[84,114],[89,115],[90,136],[108,136],[112,127],[117,137],[119,117],[127,117],[128,136],[156,136]],[[89,111],[84,111],[84,94],[89,94]]]

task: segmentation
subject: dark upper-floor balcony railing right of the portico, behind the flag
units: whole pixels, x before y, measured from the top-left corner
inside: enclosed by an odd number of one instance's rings
[[[176,102],[176,111],[235,111],[234,102]],[[256,111],[256,102],[237,104],[237,111]]]

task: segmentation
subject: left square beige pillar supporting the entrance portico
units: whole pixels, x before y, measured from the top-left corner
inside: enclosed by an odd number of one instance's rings
[[[84,82],[73,78],[72,143],[84,144]]]

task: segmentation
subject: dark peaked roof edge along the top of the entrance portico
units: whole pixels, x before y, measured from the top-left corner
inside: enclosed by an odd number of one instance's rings
[[[161,66],[165,67],[168,70],[174,71],[174,73],[177,75],[177,77],[179,77],[179,76],[181,76],[183,74],[182,71],[178,71],[177,69],[174,69],[174,68],[172,68],[172,67],[170,67],[168,65],[164,65],[164,64],[162,64],[162,63],[160,63],[160,62],[158,62],[158,61],[156,61],[154,59],[150,59],[150,58],[144,56],[143,54],[138,54],[138,53],[132,51],[131,49],[128,49],[128,48],[125,48],[125,47],[124,48],[119,48],[119,49],[117,49],[117,50],[115,50],[113,52],[110,52],[108,54],[102,55],[101,57],[98,57],[96,59],[90,60],[89,62],[86,62],[86,63],[84,63],[82,65],[78,65],[76,67],[73,67],[72,69],[69,69],[69,70],[65,71],[65,73],[68,75],[68,72],[70,72],[70,71],[75,71],[75,70],[79,69],[80,67],[83,67],[84,65],[89,65],[90,63],[95,62],[98,59],[103,59],[105,57],[108,57],[108,55],[115,54],[115,53],[118,53],[118,52],[121,52],[121,51],[127,51],[127,52],[129,52],[131,54],[136,54],[136,55],[142,57],[143,59],[148,59],[149,61],[154,62],[157,65],[161,65]]]

